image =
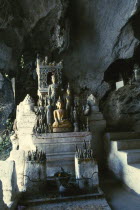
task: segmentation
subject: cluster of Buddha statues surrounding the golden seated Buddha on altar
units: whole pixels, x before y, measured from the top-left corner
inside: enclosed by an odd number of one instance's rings
[[[39,97],[35,113],[35,133],[89,131],[88,119],[84,117],[82,105],[72,96],[70,85],[64,91],[57,84],[55,75],[52,75],[47,97]]]

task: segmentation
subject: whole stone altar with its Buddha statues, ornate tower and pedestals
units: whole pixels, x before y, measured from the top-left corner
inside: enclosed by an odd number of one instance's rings
[[[80,195],[98,191],[95,139],[89,126],[89,113],[93,107],[98,111],[96,99],[77,95],[63,81],[62,67],[61,62],[42,63],[38,58],[38,100],[27,94],[17,106],[10,160],[16,163],[18,189],[26,196],[49,192],[52,183],[54,194],[71,187]]]

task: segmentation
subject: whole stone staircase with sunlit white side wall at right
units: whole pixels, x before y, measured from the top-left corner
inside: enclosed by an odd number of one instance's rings
[[[112,133],[105,135],[105,149],[108,155],[109,169],[117,178],[138,194],[140,194],[139,134],[136,132],[118,132],[113,133],[113,135]],[[112,141],[110,141],[110,136]]]

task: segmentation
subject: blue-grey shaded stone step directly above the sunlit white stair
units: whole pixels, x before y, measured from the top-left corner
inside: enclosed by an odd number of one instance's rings
[[[127,153],[128,164],[140,163],[140,149],[122,150]]]

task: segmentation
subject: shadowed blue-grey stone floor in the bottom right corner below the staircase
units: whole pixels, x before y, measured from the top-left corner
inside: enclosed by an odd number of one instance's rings
[[[111,173],[106,173],[100,180],[101,189],[112,210],[140,210],[140,195],[126,188]]]

